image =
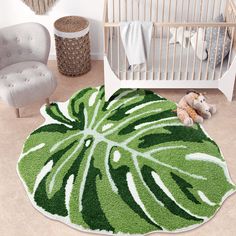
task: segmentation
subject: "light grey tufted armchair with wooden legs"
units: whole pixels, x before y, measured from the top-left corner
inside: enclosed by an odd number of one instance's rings
[[[56,80],[47,68],[50,50],[48,30],[37,23],[24,23],[0,29],[0,97],[19,108],[49,97]]]

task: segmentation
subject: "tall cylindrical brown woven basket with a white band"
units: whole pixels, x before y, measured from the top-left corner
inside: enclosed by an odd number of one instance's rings
[[[54,23],[57,65],[67,76],[79,76],[91,69],[89,22],[67,16]]]

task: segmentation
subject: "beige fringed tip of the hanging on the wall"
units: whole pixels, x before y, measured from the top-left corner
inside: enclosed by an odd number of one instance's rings
[[[45,14],[56,2],[56,0],[22,0],[37,15]]]

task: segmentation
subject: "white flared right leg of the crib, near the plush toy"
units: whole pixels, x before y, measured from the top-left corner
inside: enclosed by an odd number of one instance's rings
[[[224,73],[222,78],[219,80],[219,89],[226,96],[228,101],[233,100],[234,94],[234,83],[236,76],[236,57],[234,58],[230,68]]]

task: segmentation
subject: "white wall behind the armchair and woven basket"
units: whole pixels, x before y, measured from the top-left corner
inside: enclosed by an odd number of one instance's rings
[[[50,57],[55,58],[53,23],[66,15],[79,15],[90,21],[91,54],[102,59],[103,0],[57,0],[54,7],[43,16],[37,16],[21,0],[0,0],[0,28],[22,22],[38,22],[46,26],[52,37]]]

